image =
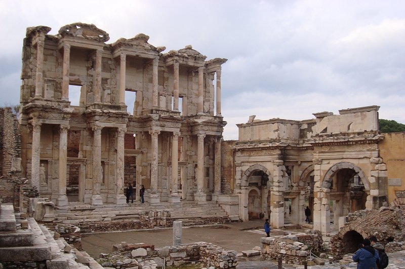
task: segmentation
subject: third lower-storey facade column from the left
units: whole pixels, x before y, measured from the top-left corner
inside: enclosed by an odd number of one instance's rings
[[[102,205],[101,197],[101,129],[103,127],[93,126],[93,192],[91,198],[92,205]]]

